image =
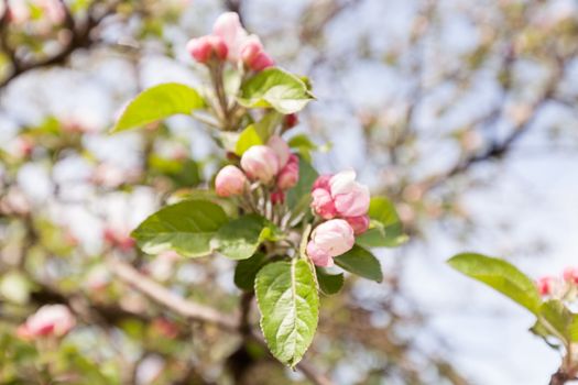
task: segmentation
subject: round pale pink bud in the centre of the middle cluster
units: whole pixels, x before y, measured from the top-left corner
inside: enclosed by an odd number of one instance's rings
[[[279,173],[275,152],[266,145],[254,145],[241,156],[241,167],[252,180],[269,184]]]

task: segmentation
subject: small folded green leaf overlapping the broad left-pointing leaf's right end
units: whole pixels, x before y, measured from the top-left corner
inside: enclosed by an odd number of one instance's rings
[[[220,228],[211,243],[214,249],[231,260],[247,260],[257,252],[264,229],[264,218],[243,216]]]

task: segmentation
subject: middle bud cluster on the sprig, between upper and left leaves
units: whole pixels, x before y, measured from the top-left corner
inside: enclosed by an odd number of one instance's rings
[[[249,182],[259,182],[272,190],[271,201],[282,204],[285,190],[299,179],[299,158],[291,153],[281,136],[271,136],[266,145],[253,145],[241,156],[242,170],[233,165],[221,168],[215,179],[215,190],[220,197],[242,195]]]

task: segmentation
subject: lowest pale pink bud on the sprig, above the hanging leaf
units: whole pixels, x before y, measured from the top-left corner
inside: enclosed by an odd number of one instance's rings
[[[307,255],[317,266],[334,265],[334,257],[353,246],[353,229],[342,219],[331,219],[315,228],[307,244]]]

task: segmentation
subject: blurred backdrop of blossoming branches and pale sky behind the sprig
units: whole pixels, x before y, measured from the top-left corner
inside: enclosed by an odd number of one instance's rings
[[[532,317],[451,271],[457,252],[533,277],[578,265],[578,3],[574,0],[4,0],[0,24],[0,381],[43,382],[37,360],[83,384],[306,383],[235,337],[131,290],[121,255],[187,298],[232,311],[233,263],[150,256],[129,232],[222,154],[177,117],[109,135],[155,84],[200,86],[185,51],[237,11],[277,64],[310,78],[299,114],[323,150],[393,199],[411,241],[380,250],[384,283],[324,297],[306,361],[337,384],[541,385],[559,356]],[[10,9],[7,12],[7,7]],[[54,356],[14,334],[61,302],[78,327]],[[239,360],[237,360],[239,361]],[[40,369],[39,369],[40,367]],[[229,367],[229,371],[227,371]],[[68,380],[67,380],[68,378]],[[250,378],[250,380],[247,380]],[[76,382],[75,382],[76,381]]]

